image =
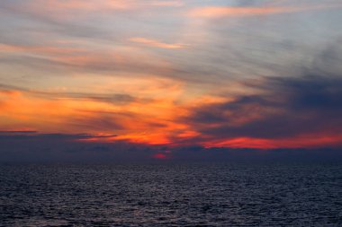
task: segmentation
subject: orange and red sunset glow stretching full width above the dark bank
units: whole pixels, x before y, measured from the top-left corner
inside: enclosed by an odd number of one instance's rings
[[[211,100],[213,103],[217,101],[202,97],[199,99]],[[94,135],[94,137],[79,139],[84,142],[127,141],[133,144],[182,146],[189,145],[186,140],[202,137],[201,133],[193,130],[190,125],[178,122],[178,118],[186,116],[188,110],[185,106],[182,108],[175,106],[168,98],[143,103],[133,101],[125,106],[115,106],[88,99],[49,100],[35,96],[34,93],[30,94],[30,92],[8,90],[0,92],[0,110],[2,116],[0,123],[4,126],[2,130],[30,128],[42,133],[77,134],[82,132]],[[102,112],[104,117],[101,115]],[[106,116],[106,112],[110,113],[109,117]],[[127,112],[130,112],[129,117],[123,114]],[[106,125],[94,126],[96,122],[101,123],[102,118],[109,120],[108,122],[113,120],[119,128],[110,126],[106,128]],[[238,137],[216,140],[205,138],[204,141],[195,142],[195,144],[207,148],[298,148],[339,144],[342,141],[342,135],[302,135],[282,139]]]

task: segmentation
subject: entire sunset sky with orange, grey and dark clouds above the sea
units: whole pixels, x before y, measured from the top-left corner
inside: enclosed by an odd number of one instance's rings
[[[341,21],[340,0],[2,0],[0,161],[339,155]]]

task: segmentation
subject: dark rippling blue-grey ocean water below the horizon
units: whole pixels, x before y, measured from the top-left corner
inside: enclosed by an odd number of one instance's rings
[[[342,226],[342,165],[2,164],[0,226]]]

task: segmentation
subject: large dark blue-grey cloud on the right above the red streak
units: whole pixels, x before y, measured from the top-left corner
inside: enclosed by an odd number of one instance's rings
[[[266,78],[259,89],[260,94],[193,109],[186,121],[214,138],[342,135],[342,78]]]

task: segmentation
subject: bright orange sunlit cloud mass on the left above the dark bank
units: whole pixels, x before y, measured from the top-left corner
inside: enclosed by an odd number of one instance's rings
[[[134,83],[134,80],[128,79],[128,82]],[[138,82],[139,87],[141,81]],[[123,87],[124,83],[121,85]],[[97,136],[89,141],[170,144],[169,138],[186,127],[176,120],[185,111],[175,102],[183,92],[181,84],[172,80],[146,79],[147,92],[136,92],[137,86],[130,84],[126,88],[138,97],[124,105],[121,100],[112,99],[110,93],[99,96],[96,93],[74,95],[63,91],[0,90],[0,126],[2,129],[34,128],[43,133],[118,135]],[[163,95],[156,98],[161,92]],[[105,97],[109,100],[103,101]]]

